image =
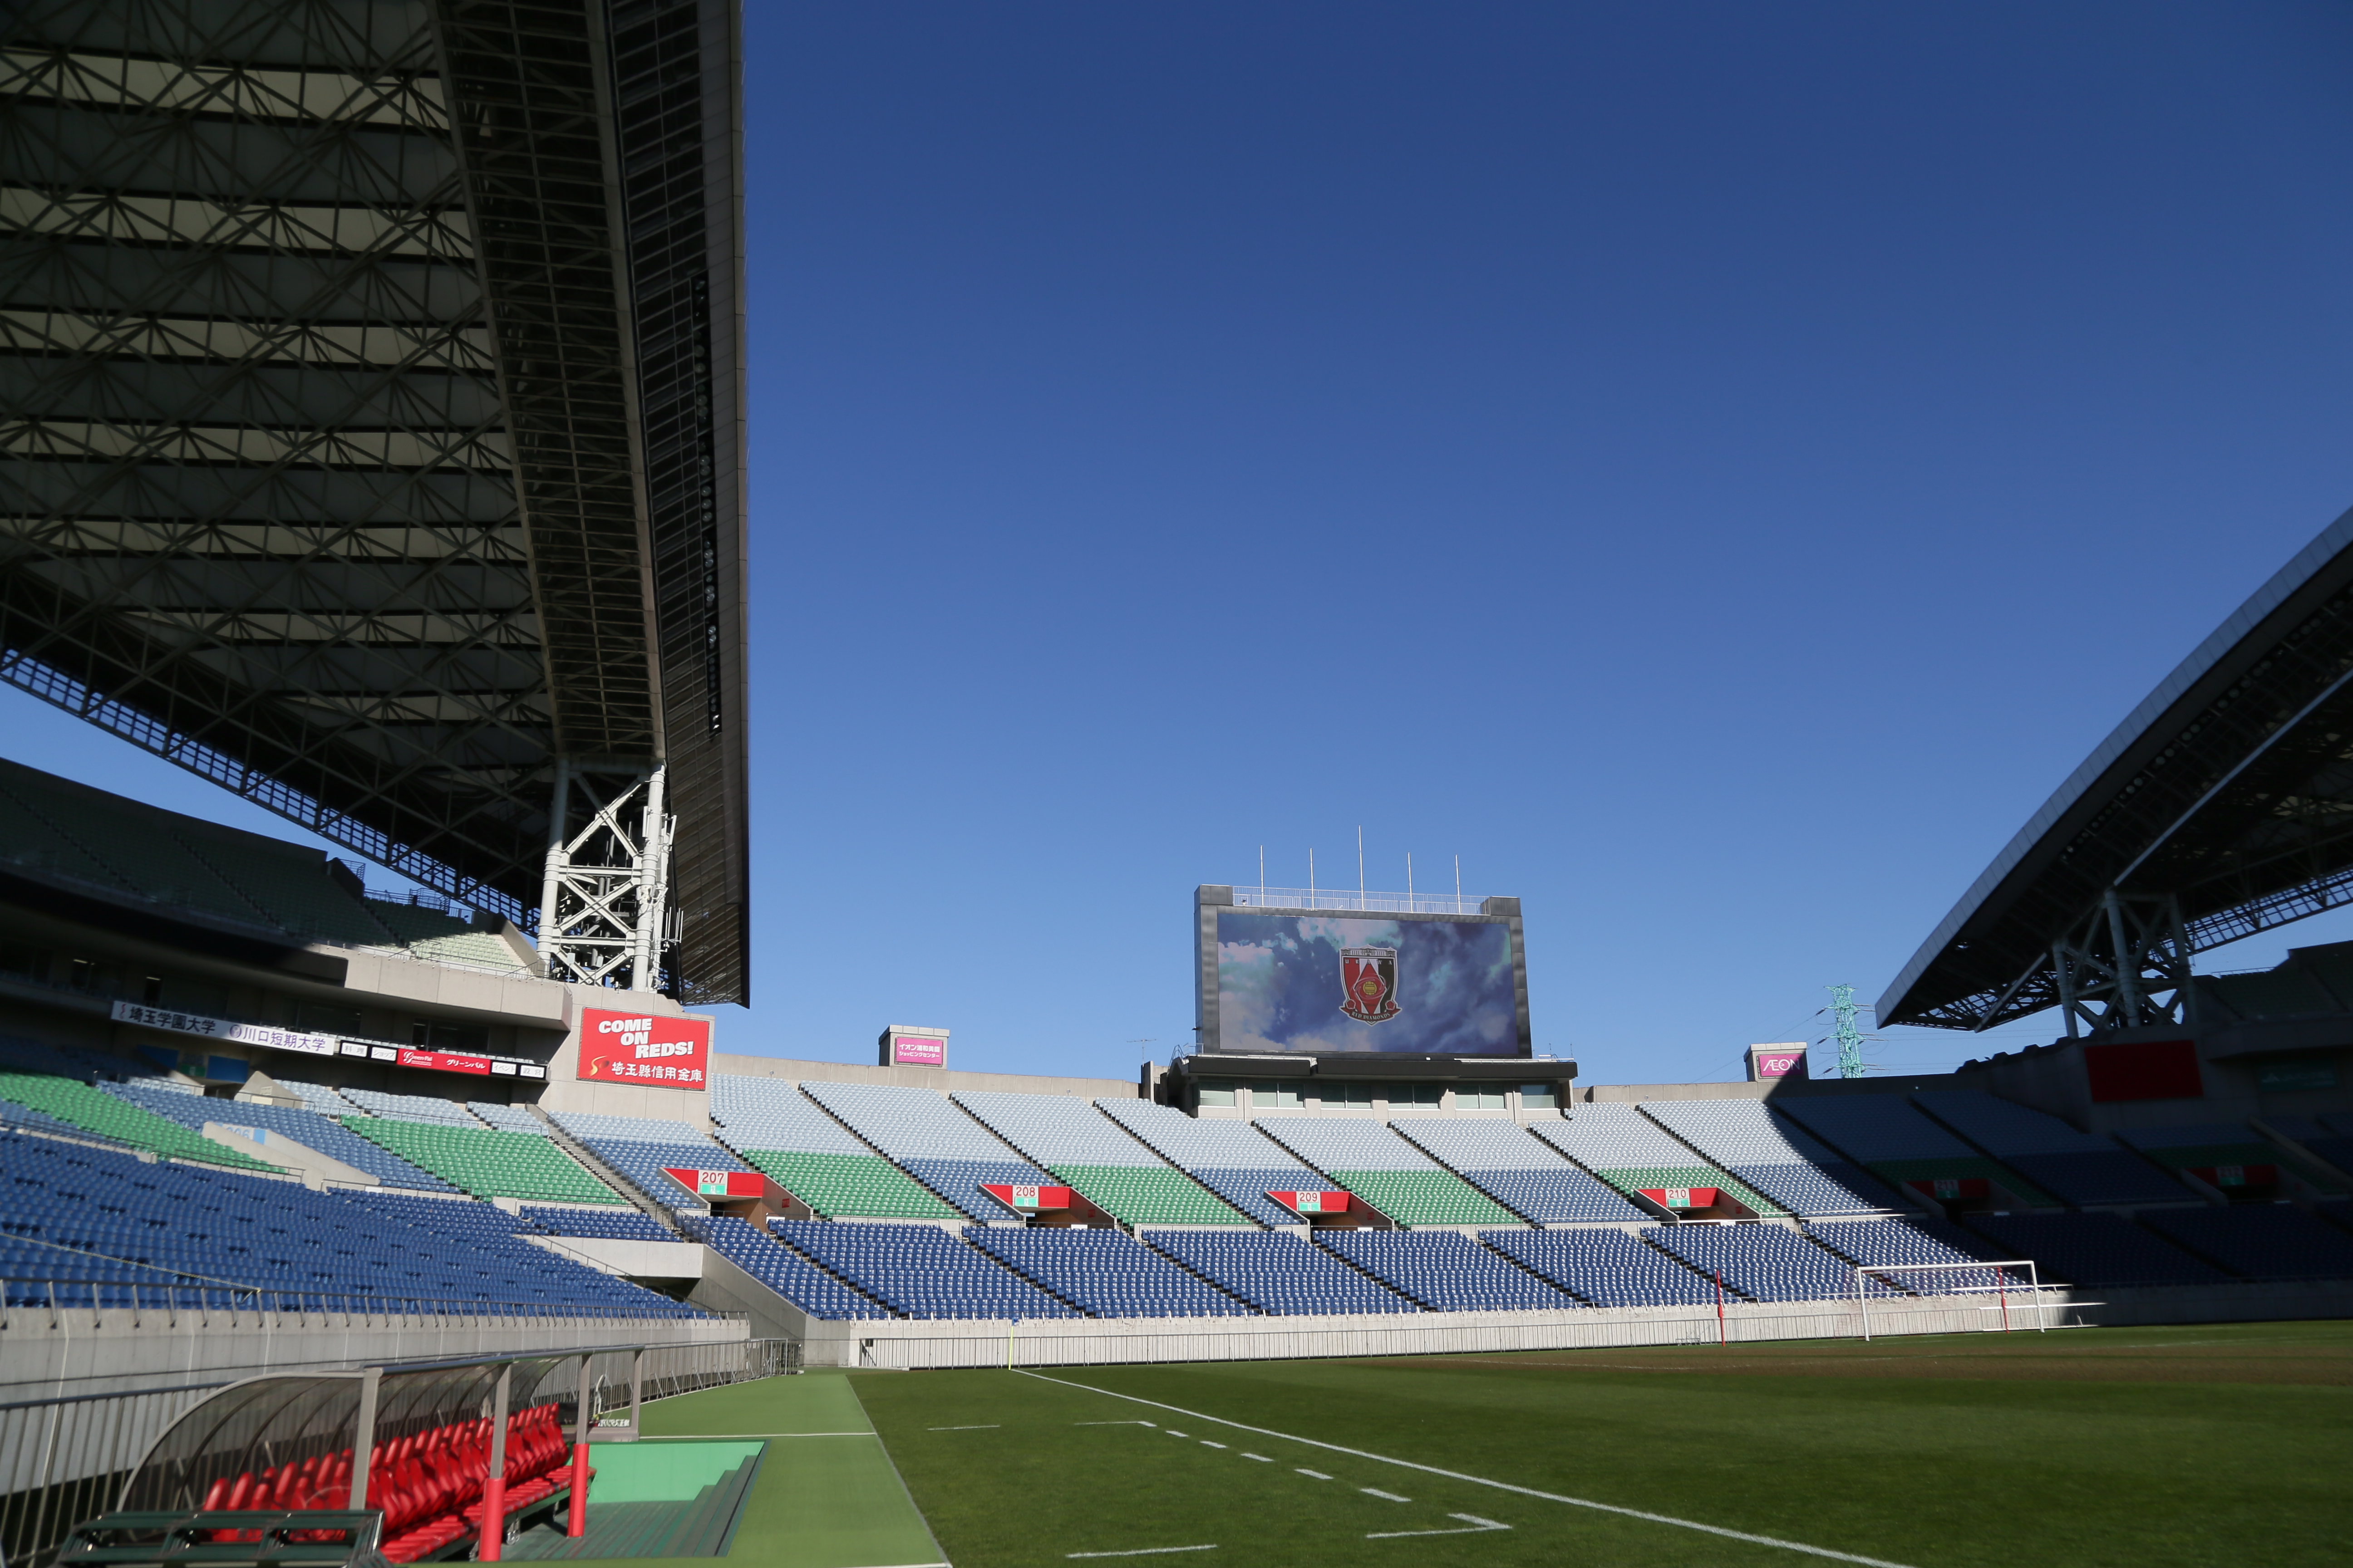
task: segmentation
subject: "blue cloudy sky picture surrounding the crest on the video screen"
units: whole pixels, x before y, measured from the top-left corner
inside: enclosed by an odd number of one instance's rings
[[[1341,1011],[1348,947],[1398,952],[1393,1018]],[[1221,1051],[1518,1056],[1518,1020],[1511,929],[1499,922],[1217,917]]]

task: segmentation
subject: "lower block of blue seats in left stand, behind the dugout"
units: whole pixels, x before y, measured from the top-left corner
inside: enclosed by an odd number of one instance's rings
[[[31,1305],[129,1305],[122,1284],[224,1286],[318,1298],[699,1316],[654,1291],[518,1241],[520,1220],[466,1199],[311,1192],[289,1180],[141,1164],[31,1133],[0,1133],[0,1274]],[[45,1246],[42,1246],[45,1244]],[[153,1298],[151,1298],[153,1300]],[[228,1298],[221,1295],[219,1305]]]

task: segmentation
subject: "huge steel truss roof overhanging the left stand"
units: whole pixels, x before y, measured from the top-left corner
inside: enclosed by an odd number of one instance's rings
[[[746,999],[736,21],[16,0],[0,677],[522,924],[659,769]]]

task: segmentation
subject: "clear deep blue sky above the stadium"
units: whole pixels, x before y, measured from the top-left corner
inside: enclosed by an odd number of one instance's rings
[[[1362,825],[1377,886],[1525,898],[1539,1048],[1737,1077],[2353,505],[2344,7],[758,0],[746,49],[722,1048],[1132,1074],[1193,886],[1353,882]]]

